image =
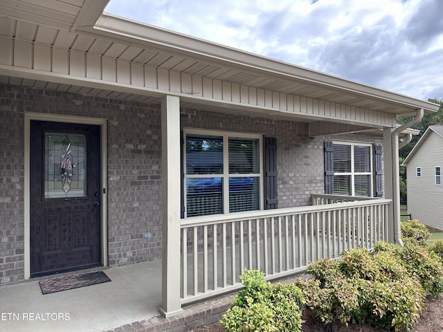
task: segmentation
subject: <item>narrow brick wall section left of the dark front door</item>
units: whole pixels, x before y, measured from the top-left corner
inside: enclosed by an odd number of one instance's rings
[[[0,86],[0,285],[24,279],[24,101]]]

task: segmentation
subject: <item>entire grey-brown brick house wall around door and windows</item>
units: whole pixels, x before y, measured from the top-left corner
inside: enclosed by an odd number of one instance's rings
[[[159,105],[0,85],[0,286],[24,279],[25,111],[107,119],[109,266],[160,259]],[[323,138],[309,138],[306,123],[185,109],[181,127],[277,138],[279,208],[324,192]]]

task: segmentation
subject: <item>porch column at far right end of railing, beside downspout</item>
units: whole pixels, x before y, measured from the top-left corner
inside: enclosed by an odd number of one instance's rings
[[[384,161],[384,178],[385,178],[385,198],[392,199],[392,204],[388,205],[388,241],[390,243],[395,242],[394,238],[394,223],[395,213],[394,209],[394,187],[392,183],[393,176],[399,176],[399,174],[393,174],[394,163],[398,163],[399,160],[393,160],[392,158],[392,131],[393,128],[383,129],[383,161]],[[399,208],[399,207],[398,207]]]

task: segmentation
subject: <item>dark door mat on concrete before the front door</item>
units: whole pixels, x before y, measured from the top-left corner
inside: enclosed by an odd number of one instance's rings
[[[68,291],[69,289],[92,286],[110,282],[111,279],[104,272],[86,273],[84,275],[66,275],[65,277],[42,280],[40,288],[43,294]]]

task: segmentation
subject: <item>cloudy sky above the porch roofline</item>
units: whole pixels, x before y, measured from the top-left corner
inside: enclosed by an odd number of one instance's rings
[[[111,0],[105,11],[414,98],[443,99],[443,0]]]

